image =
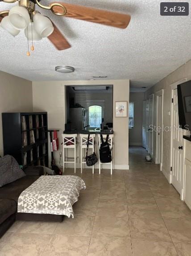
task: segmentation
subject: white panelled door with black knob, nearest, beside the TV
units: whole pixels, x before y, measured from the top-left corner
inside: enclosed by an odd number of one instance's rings
[[[185,130],[179,128],[179,111],[178,111],[178,95],[177,88],[172,90],[172,157],[171,157],[171,183],[179,192],[183,200],[183,171],[184,171],[184,148],[183,148],[183,135]]]

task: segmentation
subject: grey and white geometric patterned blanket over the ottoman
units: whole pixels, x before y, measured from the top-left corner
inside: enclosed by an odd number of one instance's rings
[[[74,218],[72,205],[86,185],[78,176],[41,176],[18,199],[18,213],[66,215]]]

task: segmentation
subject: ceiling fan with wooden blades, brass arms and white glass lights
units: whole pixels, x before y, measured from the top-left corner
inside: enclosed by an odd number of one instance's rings
[[[1,27],[13,36],[18,35],[20,30],[24,29],[28,41],[32,41],[31,50],[34,49],[33,41],[40,40],[43,37],[48,37],[50,42],[60,51],[71,47],[56,25],[50,21],[50,18],[36,11],[36,4],[43,9],[51,10],[58,16],[71,17],[122,29],[129,25],[131,19],[130,15],[123,13],[114,13],[62,2],[53,2],[49,6],[44,6],[40,1],[0,0],[0,2],[5,3],[18,2],[18,6],[12,7],[10,11],[0,12]],[[30,55],[29,49],[27,55]]]

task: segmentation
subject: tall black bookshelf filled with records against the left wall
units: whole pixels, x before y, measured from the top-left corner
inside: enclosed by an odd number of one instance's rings
[[[46,112],[2,113],[4,155],[24,168],[49,164]]]

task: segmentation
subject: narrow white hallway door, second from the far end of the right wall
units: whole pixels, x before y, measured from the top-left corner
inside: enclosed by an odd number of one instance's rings
[[[149,96],[149,148],[148,153],[153,157],[153,102],[154,102],[154,94]]]

